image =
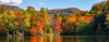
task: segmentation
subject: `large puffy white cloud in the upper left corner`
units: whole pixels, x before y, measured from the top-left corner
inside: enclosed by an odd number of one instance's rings
[[[19,5],[23,0],[0,0],[0,4]]]

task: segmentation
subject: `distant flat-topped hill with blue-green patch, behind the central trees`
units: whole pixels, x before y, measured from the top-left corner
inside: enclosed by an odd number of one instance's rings
[[[78,12],[80,10],[76,8],[68,8],[68,9],[55,9],[55,10],[49,10],[48,13],[49,14],[55,14],[55,13],[63,13],[63,14],[71,14],[74,12]]]

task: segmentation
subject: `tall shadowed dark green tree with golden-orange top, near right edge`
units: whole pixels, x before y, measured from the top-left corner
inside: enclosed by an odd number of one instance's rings
[[[94,15],[94,33],[98,33],[101,31],[101,33],[105,33],[105,22],[106,22],[106,13],[104,11],[105,2],[96,3],[90,10],[92,14]],[[98,28],[100,25],[101,28]]]

